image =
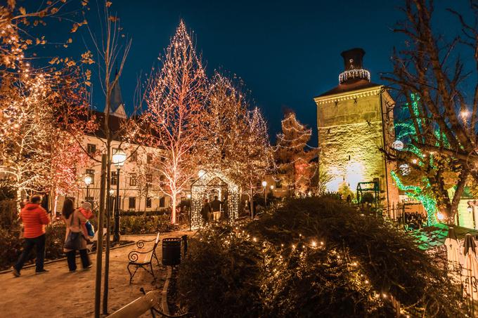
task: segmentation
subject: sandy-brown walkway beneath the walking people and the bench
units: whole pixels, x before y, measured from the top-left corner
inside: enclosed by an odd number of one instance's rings
[[[191,232],[172,232],[161,237],[181,237],[183,234],[190,235]],[[153,236],[124,237],[132,241],[153,238]],[[140,297],[141,287],[150,291],[155,287],[162,288],[164,284],[166,270],[157,268],[157,265],[153,266],[157,277],[155,284],[153,284],[153,277],[141,269],[136,272],[133,283],[129,284],[128,253],[135,247],[136,245],[126,246],[110,252],[109,313]],[[160,247],[157,249],[157,256],[161,261]],[[90,255],[90,258],[93,264],[96,264],[96,256]],[[77,256],[77,265],[80,269],[79,256]],[[95,265],[91,267],[91,270],[77,270],[70,273],[66,260],[62,260],[47,264],[45,268],[50,272],[41,275],[34,274],[34,267],[22,270],[21,277],[15,278],[11,273],[0,274],[0,317],[92,317],[95,298]],[[150,317],[150,314],[143,314],[142,317]]]

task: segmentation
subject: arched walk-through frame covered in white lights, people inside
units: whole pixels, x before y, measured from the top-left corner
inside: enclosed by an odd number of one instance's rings
[[[218,180],[220,183],[218,183]],[[239,215],[240,187],[227,175],[220,171],[206,171],[200,173],[198,180],[191,185],[191,226],[193,228],[201,227],[202,201],[207,195],[207,191],[215,187],[226,187],[227,189],[227,208],[228,223],[234,223]]]

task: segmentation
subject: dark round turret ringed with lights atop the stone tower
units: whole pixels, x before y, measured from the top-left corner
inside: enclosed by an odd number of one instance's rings
[[[370,72],[362,68],[363,55],[365,55],[362,48],[351,48],[340,55],[344,58],[345,70],[339,75],[339,84],[353,84],[361,79],[370,81]]]

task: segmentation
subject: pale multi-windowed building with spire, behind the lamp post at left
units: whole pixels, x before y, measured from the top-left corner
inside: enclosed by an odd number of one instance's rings
[[[76,193],[68,196],[75,201],[76,205],[79,205],[82,201],[91,202],[93,207],[99,204],[101,154],[106,153],[106,136],[103,129],[105,112],[106,110],[93,112],[99,127],[94,133],[85,135],[82,140],[82,146],[88,152],[91,160],[86,166],[78,167],[78,178],[81,186]],[[171,199],[162,193],[157,186],[158,182],[164,180],[164,176],[159,175],[157,171],[151,168],[151,163],[159,157],[164,157],[164,154],[161,154],[161,150],[157,148],[120,141],[122,133],[118,132],[127,121],[127,114],[124,110],[119,84],[112,89],[109,112],[108,126],[112,133],[119,137],[112,140],[111,154],[121,148],[127,155],[127,160],[124,161],[124,165],[120,167],[119,171],[116,166],[111,165],[109,197],[116,200],[117,187],[119,187],[120,211],[160,211],[169,208]],[[83,182],[86,176],[91,180],[90,185]],[[59,208],[62,206],[62,202],[58,203]]]

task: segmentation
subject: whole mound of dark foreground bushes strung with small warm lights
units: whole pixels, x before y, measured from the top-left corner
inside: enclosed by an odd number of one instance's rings
[[[460,289],[407,234],[330,198],[202,230],[179,269],[198,317],[460,317]]]

